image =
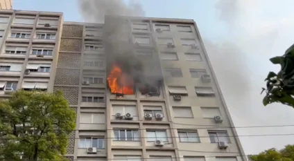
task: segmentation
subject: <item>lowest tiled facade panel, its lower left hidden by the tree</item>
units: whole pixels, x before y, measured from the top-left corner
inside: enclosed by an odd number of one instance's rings
[[[78,104],[78,87],[54,86],[53,91],[62,91],[64,93],[64,97],[69,101],[69,104]]]

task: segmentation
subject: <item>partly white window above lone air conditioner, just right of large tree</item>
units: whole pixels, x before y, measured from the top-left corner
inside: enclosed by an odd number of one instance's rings
[[[80,137],[78,148],[96,147],[97,149],[105,149],[105,139],[98,137]]]

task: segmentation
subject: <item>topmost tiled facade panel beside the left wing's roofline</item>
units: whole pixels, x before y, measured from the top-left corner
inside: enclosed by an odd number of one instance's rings
[[[62,37],[83,37],[83,26],[64,25]]]

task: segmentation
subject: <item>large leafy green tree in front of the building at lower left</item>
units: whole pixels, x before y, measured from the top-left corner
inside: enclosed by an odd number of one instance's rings
[[[76,112],[63,93],[17,91],[0,100],[0,161],[62,160]]]

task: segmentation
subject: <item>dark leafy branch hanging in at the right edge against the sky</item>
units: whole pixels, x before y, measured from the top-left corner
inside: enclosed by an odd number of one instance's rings
[[[294,107],[294,44],[283,56],[270,58],[270,61],[281,65],[281,70],[268,73],[266,88],[263,88],[266,91],[263,105],[279,102]]]

